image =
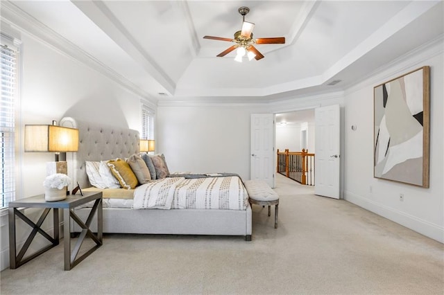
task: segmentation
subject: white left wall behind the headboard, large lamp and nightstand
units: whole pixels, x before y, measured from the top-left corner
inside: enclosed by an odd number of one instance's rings
[[[24,32],[20,38],[22,95],[16,123],[19,135],[16,146],[17,199],[44,193],[46,162],[54,161],[52,153],[24,152],[24,125],[51,124],[52,120],[72,116],[89,122],[139,129],[141,114],[140,97]],[[9,266],[8,215],[5,213],[7,211],[0,213],[1,269]],[[30,214],[35,220],[33,215],[37,212],[27,209],[26,215]],[[50,217],[47,219],[43,228],[51,233],[52,221]],[[23,244],[29,229],[29,226],[17,225],[18,244]],[[32,247],[38,249],[43,240],[37,238]]]

